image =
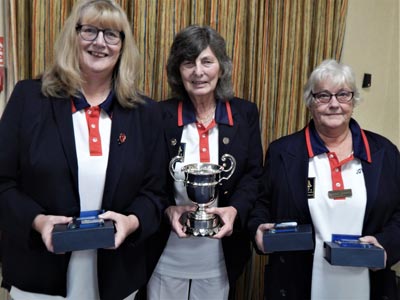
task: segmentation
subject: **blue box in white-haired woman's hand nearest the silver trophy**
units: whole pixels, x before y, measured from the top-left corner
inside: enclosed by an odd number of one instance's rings
[[[313,233],[310,224],[297,225],[290,230],[265,231],[263,241],[266,253],[314,249]]]

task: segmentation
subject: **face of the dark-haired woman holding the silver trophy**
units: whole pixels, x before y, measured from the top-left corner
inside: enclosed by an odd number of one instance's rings
[[[212,98],[220,76],[220,65],[210,47],[194,61],[185,60],[179,66],[183,85],[192,99]]]

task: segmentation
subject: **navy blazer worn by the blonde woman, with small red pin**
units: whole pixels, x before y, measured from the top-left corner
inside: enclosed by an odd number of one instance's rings
[[[167,204],[160,121],[148,98],[134,109],[114,99],[102,208],[135,214],[140,226],[118,249],[98,250],[101,299],[123,299],[145,284],[143,241],[158,229]],[[0,145],[3,286],[65,296],[70,253],[48,252],[32,221],[80,212],[71,99],[45,97],[39,80],[19,82],[0,121]]]

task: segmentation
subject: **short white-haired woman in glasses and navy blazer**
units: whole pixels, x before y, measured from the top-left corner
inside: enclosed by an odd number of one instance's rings
[[[396,299],[400,259],[400,156],[386,138],[362,130],[351,118],[359,101],[351,69],[327,60],[311,74],[304,98],[312,120],[270,144],[264,193],[249,230],[259,253],[274,223],[312,224],[315,249],[275,252],[265,268],[266,299]],[[354,234],[385,251],[386,267],[329,265],[323,242]]]

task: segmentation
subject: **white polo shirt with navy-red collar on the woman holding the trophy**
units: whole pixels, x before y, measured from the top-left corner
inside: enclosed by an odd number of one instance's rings
[[[183,126],[181,149],[182,163],[175,164],[175,176],[183,179],[180,171],[184,165],[198,162],[219,164],[218,123],[233,124],[228,102],[218,102],[216,117],[205,128],[196,122],[191,102],[180,102],[178,106],[178,124]],[[174,183],[176,205],[193,204],[183,182]],[[218,199],[213,206],[218,205]],[[170,233],[167,245],[155,269],[156,273],[175,278],[205,279],[226,274],[225,259],[220,239],[208,237],[179,238]]]

